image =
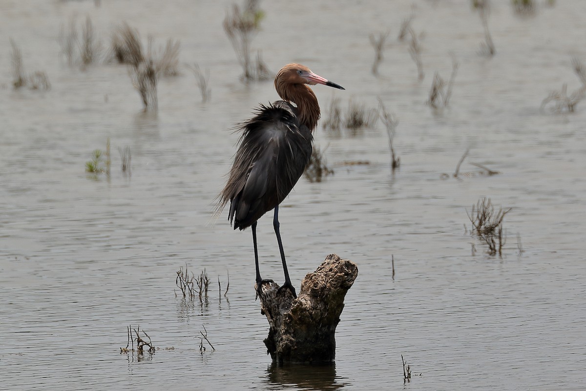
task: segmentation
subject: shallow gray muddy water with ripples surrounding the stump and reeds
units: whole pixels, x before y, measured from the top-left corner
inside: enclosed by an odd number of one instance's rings
[[[335,174],[300,179],[282,204],[289,273],[299,286],[336,253],[359,276],[335,365],[278,368],[254,301],[250,230],[234,232],[227,213],[212,217],[237,141],[230,128],[277,99],[271,82],[239,81],[222,29],[230,2],[0,2],[0,389],[586,387],[586,108],[540,111],[564,83],[580,87],[571,58],[586,62],[586,2],[537,3],[520,18],[493,1],[492,58],[479,53],[482,25],[463,0],[261,3],[253,47],[272,72],[306,64],[346,88],[314,87],[322,111],[333,97],[344,109],[380,97],[400,121],[394,172],[380,122],[358,134],[316,131]],[[411,12],[423,81],[396,39]],[[156,114],[142,112],[124,66],[81,70],[59,54],[60,25],[86,16],[104,47],[124,21],[155,45],[180,40],[180,74],[160,80]],[[368,35],[387,29],[376,78]],[[25,72],[46,72],[49,91],[13,90],[9,38]],[[449,78],[449,53],[458,74],[449,106],[434,111],[425,102],[434,73]],[[210,70],[205,104],[186,67],[194,62]],[[111,175],[91,178],[85,164],[107,138]],[[118,155],[127,146],[131,175]],[[368,164],[347,164],[357,161]],[[469,232],[466,210],[483,197],[512,208],[502,258]],[[258,240],[261,273],[282,283],[270,216]],[[207,271],[207,300],[174,293],[185,264]],[[147,331],[154,355],[120,353],[129,324]],[[215,351],[199,351],[204,327]],[[401,355],[413,373],[406,384]]]

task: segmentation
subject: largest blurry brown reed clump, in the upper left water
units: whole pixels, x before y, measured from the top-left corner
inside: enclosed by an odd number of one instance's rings
[[[119,63],[130,66],[132,85],[140,94],[145,110],[156,110],[158,107],[159,76],[179,74],[179,47],[178,40],[168,39],[165,47],[155,52],[154,39],[149,37],[145,52],[138,31],[128,23],[114,30],[113,57]]]

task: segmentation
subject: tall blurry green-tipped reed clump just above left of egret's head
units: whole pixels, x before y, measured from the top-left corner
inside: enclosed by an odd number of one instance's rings
[[[272,74],[261,58],[260,51],[257,52],[256,63],[253,63],[251,59],[251,42],[260,30],[260,22],[264,18],[259,2],[259,0],[246,0],[243,8],[233,4],[232,8],[226,12],[223,22],[224,32],[243,69],[241,79],[245,83],[272,78]]]

